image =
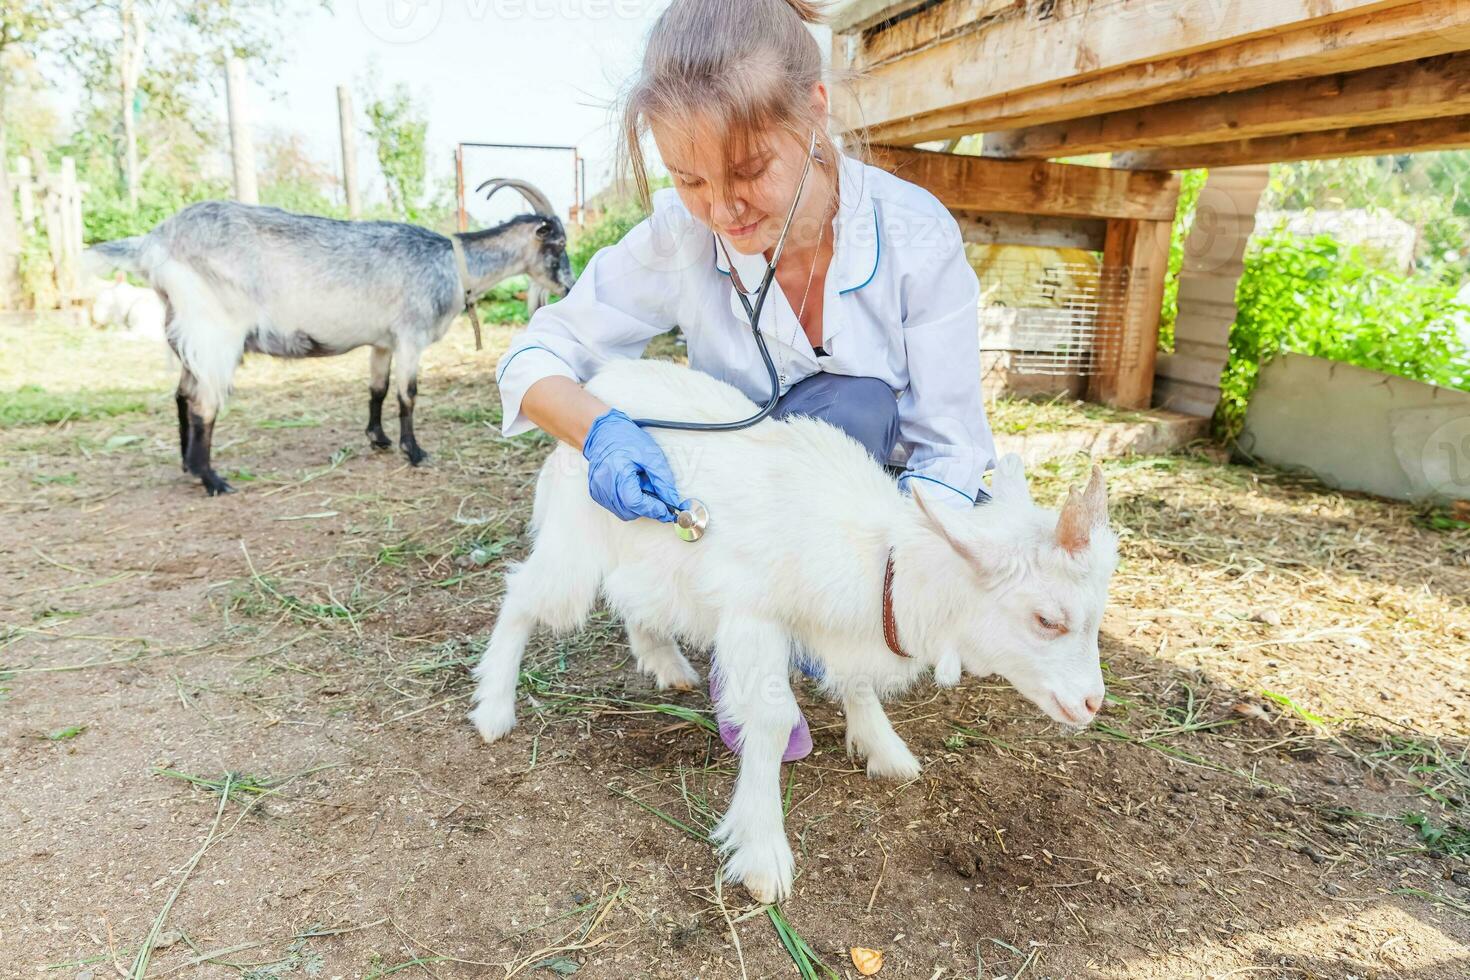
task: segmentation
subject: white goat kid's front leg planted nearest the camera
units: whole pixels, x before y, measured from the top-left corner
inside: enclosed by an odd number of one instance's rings
[[[728,855],[725,876],[759,902],[789,895],[795,873],[781,813],[781,754],[800,717],[786,676],[789,651],[785,630],[745,617],[728,616],[714,638],[717,711],[739,726],[741,746],[729,810],[710,836]]]

